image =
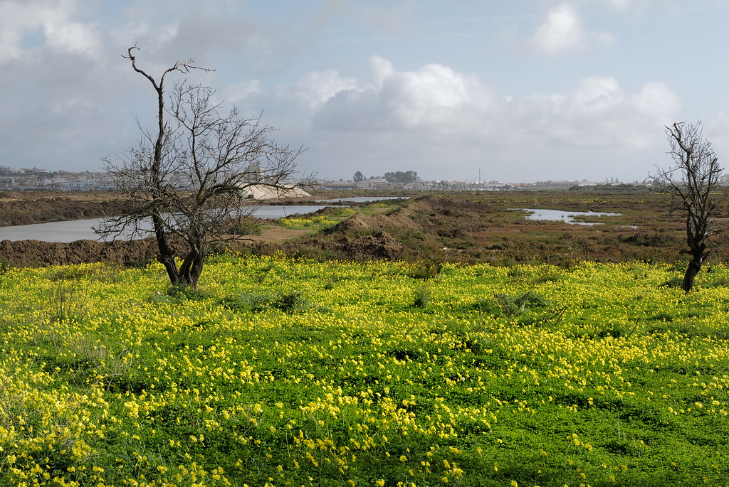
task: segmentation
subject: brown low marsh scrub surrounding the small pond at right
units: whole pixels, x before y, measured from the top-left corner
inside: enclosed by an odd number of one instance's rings
[[[527,220],[524,212],[513,208],[620,215],[582,218],[582,223],[597,223],[593,226],[569,225]],[[663,194],[595,190],[430,193],[410,200],[359,205],[353,210],[353,218],[331,228],[312,226],[313,233],[296,242],[259,243],[241,250],[264,254],[283,251],[310,258],[369,260],[394,256],[410,262],[497,266],[571,266],[580,261],[674,264],[685,260],[681,253],[685,221],[668,213],[668,197]],[[342,219],[327,216],[332,223]],[[717,195],[717,217],[720,221],[729,217],[727,194]],[[383,232],[392,239],[383,238]],[[712,261],[726,260],[727,238],[727,234],[712,236]]]

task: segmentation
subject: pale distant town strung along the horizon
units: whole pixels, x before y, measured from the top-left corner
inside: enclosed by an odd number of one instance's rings
[[[184,173],[174,173],[171,182],[178,188],[184,189],[189,185]],[[286,183],[294,184],[300,181],[292,179]],[[722,183],[729,186],[729,175],[724,175]],[[650,186],[650,183],[633,181],[625,183],[616,178],[603,182],[598,181],[536,181],[534,183],[503,183],[501,181],[424,181],[414,171],[406,173],[386,173],[365,178],[362,173],[356,173],[351,180],[319,181],[313,189],[319,190],[362,190],[362,189],[390,189],[407,191],[509,191],[530,189],[580,189],[589,186],[603,185],[631,185]],[[49,171],[34,167],[33,169],[16,169],[0,165],[0,190],[56,190],[56,191],[103,191],[114,189],[114,178],[110,173],[90,172],[74,173],[71,171]]]

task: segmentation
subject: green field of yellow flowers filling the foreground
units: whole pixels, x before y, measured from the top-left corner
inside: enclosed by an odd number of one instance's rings
[[[3,269],[2,486],[729,485],[729,269]]]

